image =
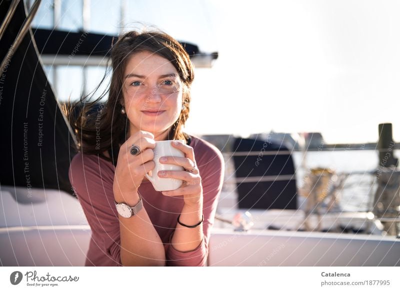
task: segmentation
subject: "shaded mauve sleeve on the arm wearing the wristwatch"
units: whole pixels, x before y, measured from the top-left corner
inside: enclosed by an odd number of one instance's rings
[[[119,220],[114,205],[112,169],[105,166],[104,161],[97,156],[79,153],[71,161],[69,181],[92,231],[92,242],[103,253],[98,257],[108,257],[115,265],[121,266]]]

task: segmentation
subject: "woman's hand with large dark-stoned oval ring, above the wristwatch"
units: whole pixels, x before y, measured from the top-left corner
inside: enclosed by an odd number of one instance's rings
[[[129,152],[132,144],[140,148],[140,153],[136,156]],[[121,145],[112,186],[115,201],[137,201],[137,189],[144,175],[155,167],[152,161],[154,147],[154,135],[148,131],[134,133]]]

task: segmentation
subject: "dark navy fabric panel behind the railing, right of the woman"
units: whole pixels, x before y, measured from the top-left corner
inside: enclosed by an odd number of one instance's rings
[[[268,141],[242,138],[234,140],[233,153],[255,153],[233,156],[236,178],[293,175],[293,180],[246,182],[244,179],[244,182],[237,182],[239,208],[297,209],[292,157],[289,154],[266,154],[287,150],[283,145]]]

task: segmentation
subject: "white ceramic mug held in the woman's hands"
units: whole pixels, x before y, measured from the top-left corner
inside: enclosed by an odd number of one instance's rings
[[[185,143],[184,140],[178,139],[173,140],[181,143]],[[158,177],[158,171],[182,171],[183,167],[171,164],[161,164],[159,162],[160,157],[184,157],[184,153],[171,145],[172,140],[156,141],[153,149],[155,167],[151,172],[151,175],[146,173],[147,179],[153,185],[155,191],[169,191],[176,190],[182,185],[182,180],[172,178],[160,178]]]

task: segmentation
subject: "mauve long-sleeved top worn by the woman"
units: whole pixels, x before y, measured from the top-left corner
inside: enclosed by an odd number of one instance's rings
[[[176,219],[183,208],[182,196],[164,196],[148,180],[143,180],[138,188],[143,207],[164,245],[166,266],[206,264],[210,229],[222,188],[224,162],[220,151],[194,136],[190,136],[189,145],[193,148],[203,187],[204,239],[195,250],[179,252],[170,244]],[[121,266],[119,219],[112,192],[114,170],[112,162],[81,153],[73,157],[69,167],[69,181],[92,232],[85,266]]]

